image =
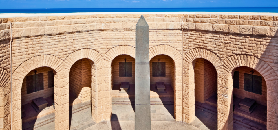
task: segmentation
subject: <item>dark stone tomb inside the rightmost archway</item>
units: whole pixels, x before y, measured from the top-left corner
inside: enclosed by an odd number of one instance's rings
[[[244,112],[248,112],[248,113],[252,113],[253,110],[255,109],[255,107],[257,106],[256,101],[254,99],[250,99],[250,98],[244,98],[240,103],[240,107],[238,109],[244,111]]]

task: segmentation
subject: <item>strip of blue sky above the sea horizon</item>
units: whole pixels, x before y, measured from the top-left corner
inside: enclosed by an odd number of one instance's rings
[[[278,7],[278,0],[0,0],[0,9]]]

